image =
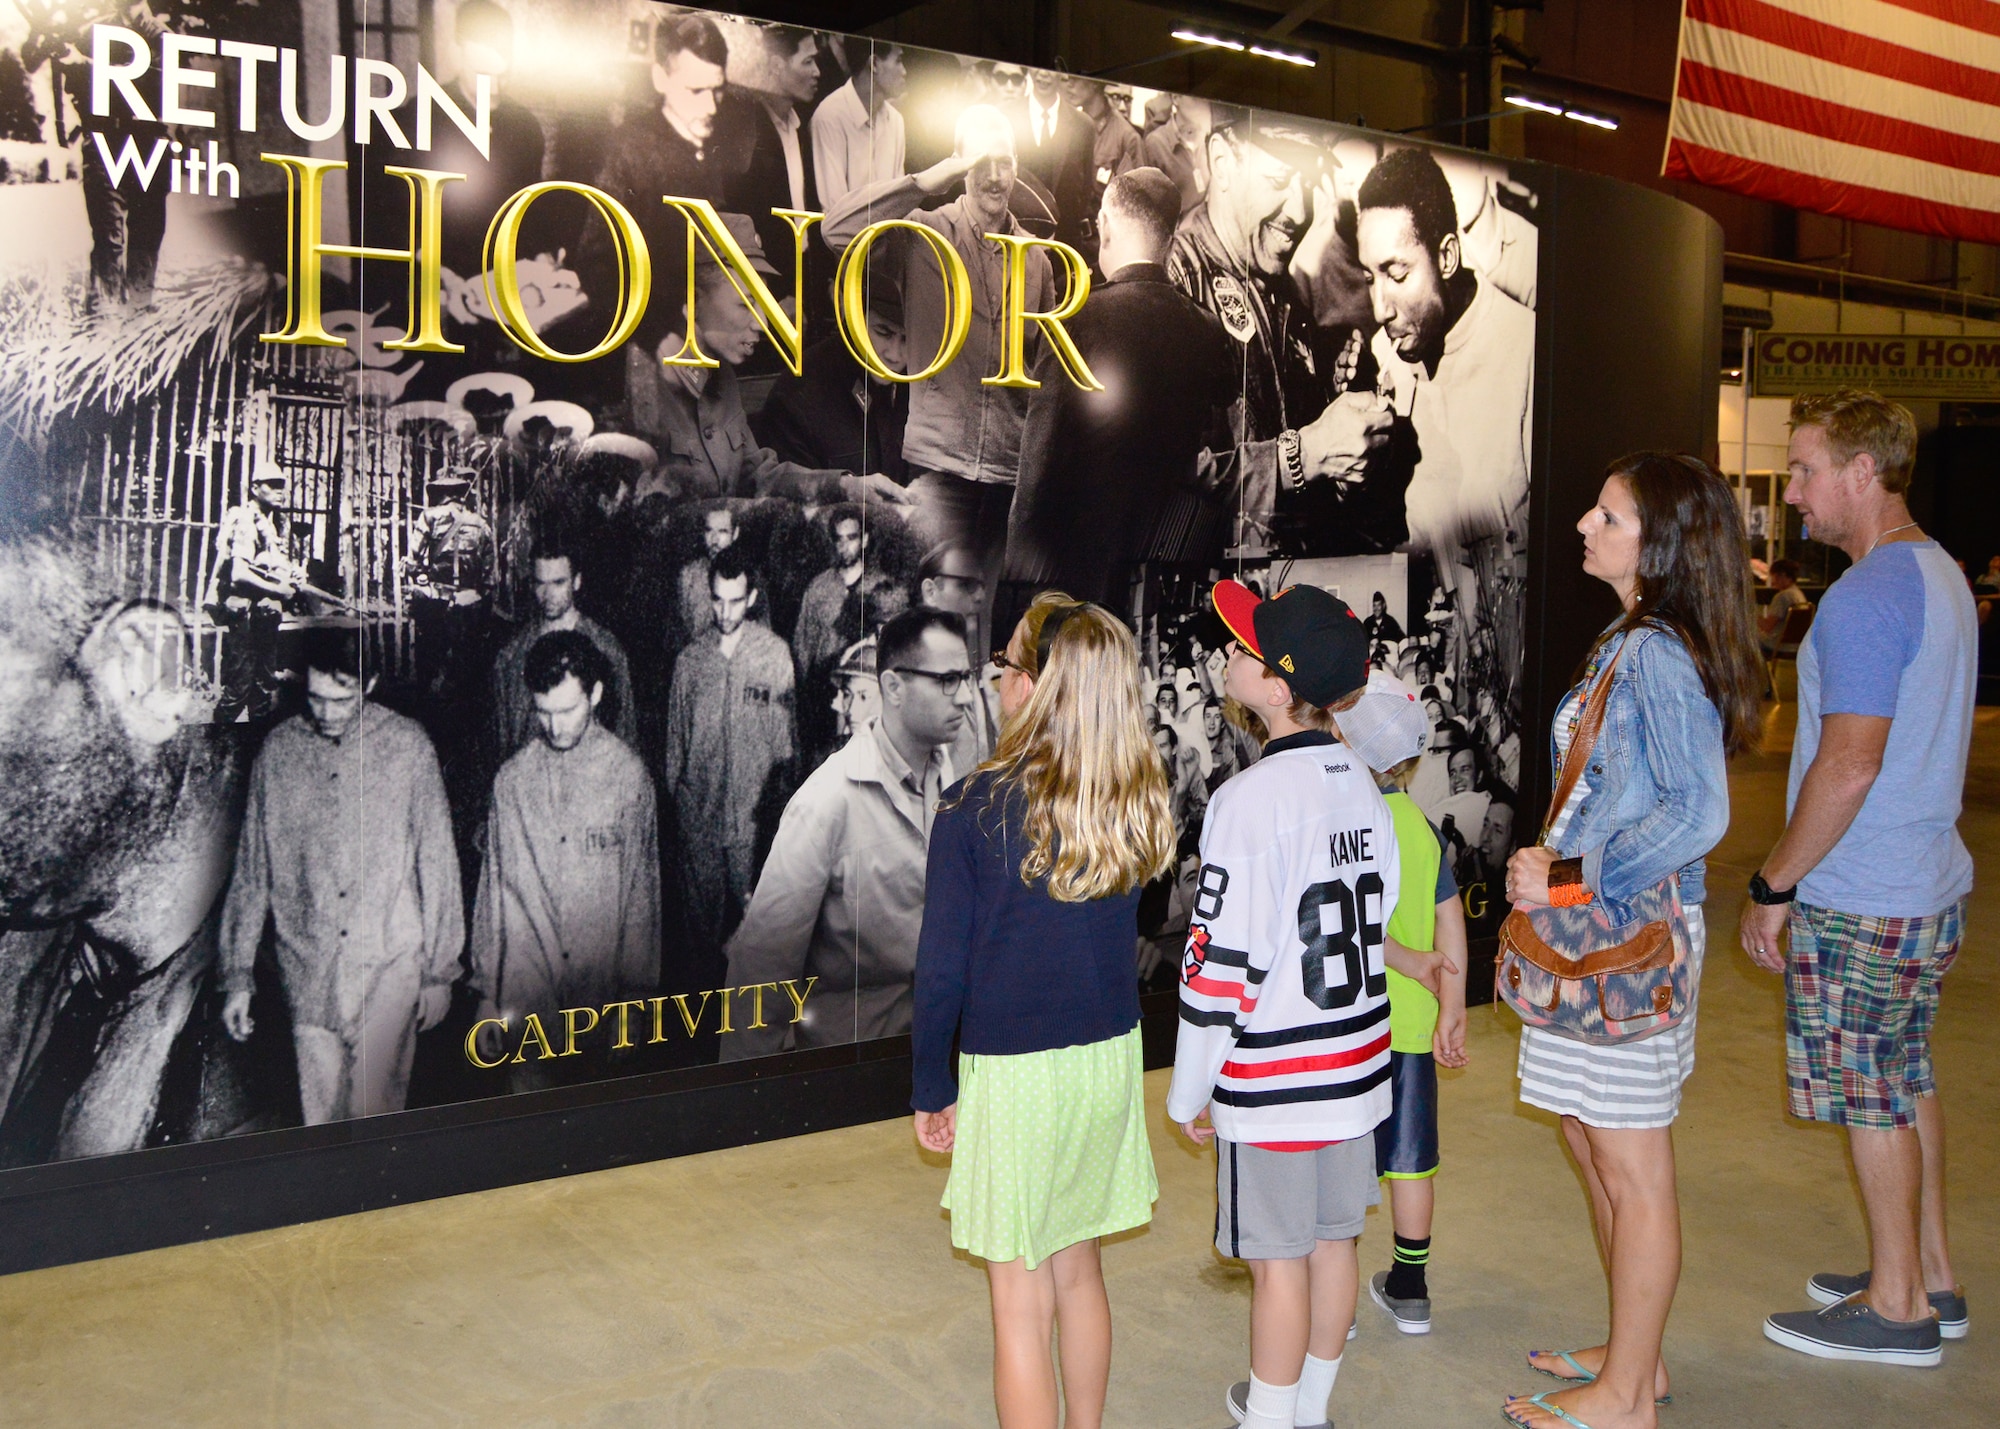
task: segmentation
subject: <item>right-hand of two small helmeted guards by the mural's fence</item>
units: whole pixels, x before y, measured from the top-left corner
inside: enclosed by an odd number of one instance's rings
[[[410,542],[416,682],[432,694],[468,688],[486,632],[494,528],[466,506],[470,490],[470,466],[452,466],[424,482],[430,504],[418,516]]]

